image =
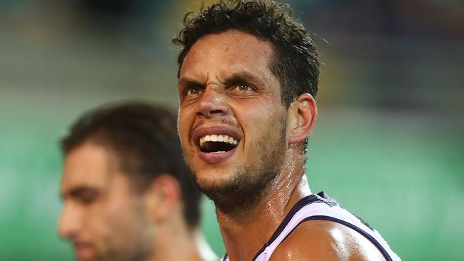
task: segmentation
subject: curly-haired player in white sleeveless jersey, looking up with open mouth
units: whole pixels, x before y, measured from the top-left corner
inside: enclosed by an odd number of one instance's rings
[[[175,44],[178,128],[216,205],[224,260],[399,260],[305,176],[319,61],[290,8],[220,1],[188,13]]]

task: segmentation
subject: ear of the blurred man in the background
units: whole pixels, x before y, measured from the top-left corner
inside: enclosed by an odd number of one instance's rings
[[[164,222],[181,205],[181,185],[172,175],[161,174],[151,183],[145,194],[148,218]]]

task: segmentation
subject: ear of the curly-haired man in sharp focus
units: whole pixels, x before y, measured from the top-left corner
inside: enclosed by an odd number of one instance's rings
[[[301,143],[313,131],[318,117],[316,101],[309,93],[303,93],[288,108],[288,143]]]

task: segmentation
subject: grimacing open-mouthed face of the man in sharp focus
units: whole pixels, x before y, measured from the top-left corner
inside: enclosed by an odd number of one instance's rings
[[[270,43],[231,30],[203,36],[183,61],[181,143],[198,185],[213,200],[221,190],[258,193],[281,168],[287,111],[272,58]]]

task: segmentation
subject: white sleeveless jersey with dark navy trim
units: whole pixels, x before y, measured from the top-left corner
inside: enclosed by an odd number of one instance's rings
[[[374,230],[363,220],[360,220],[360,218],[357,218],[355,215],[341,208],[336,200],[329,198],[323,192],[317,195],[308,195],[298,201],[286,218],[283,219],[281,225],[279,225],[271,239],[261,248],[253,260],[268,261],[278,245],[280,245],[298,225],[308,220],[329,220],[338,222],[341,225],[346,225],[372,242],[382,253],[383,257],[385,257],[385,260],[400,261],[400,257],[390,249],[387,242],[383,240],[383,237],[377,230]],[[223,257],[223,261],[228,261],[227,254]]]

